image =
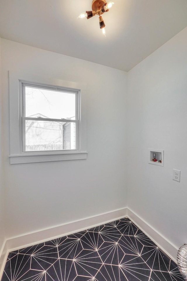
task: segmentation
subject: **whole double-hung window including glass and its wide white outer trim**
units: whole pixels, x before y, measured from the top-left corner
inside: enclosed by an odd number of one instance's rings
[[[85,86],[30,82],[10,74],[9,82],[11,164],[86,159]]]

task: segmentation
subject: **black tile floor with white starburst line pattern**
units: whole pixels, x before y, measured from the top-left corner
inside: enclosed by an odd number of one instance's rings
[[[2,281],[181,281],[128,218],[11,252]]]

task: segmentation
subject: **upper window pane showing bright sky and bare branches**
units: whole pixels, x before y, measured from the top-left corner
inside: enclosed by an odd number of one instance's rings
[[[25,117],[77,119],[76,93],[25,86]]]

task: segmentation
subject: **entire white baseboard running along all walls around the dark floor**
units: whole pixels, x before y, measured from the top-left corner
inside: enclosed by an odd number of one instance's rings
[[[0,256],[0,280],[3,274],[4,266],[8,253],[18,249],[22,249],[31,245],[63,237],[72,233],[76,233],[91,227],[105,224],[113,220],[123,217],[129,217],[153,242],[160,247],[174,262],[176,262],[176,254],[178,249],[170,243],[165,237],[158,233],[153,227],[146,223],[141,217],[129,208],[123,208],[101,215],[88,217],[82,220],[58,225],[48,229],[42,229],[37,232],[27,233],[22,236],[7,239],[4,243],[4,249]]]

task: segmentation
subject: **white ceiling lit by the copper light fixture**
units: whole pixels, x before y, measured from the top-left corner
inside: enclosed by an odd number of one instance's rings
[[[104,37],[91,1],[0,0],[0,37],[129,71],[187,26],[187,0],[113,0]]]

